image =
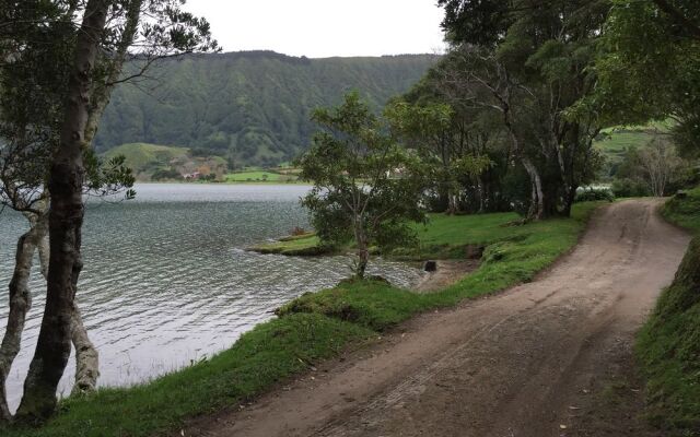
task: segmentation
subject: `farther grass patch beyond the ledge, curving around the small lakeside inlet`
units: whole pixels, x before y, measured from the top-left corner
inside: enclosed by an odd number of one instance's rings
[[[515,214],[434,215],[434,220],[421,233],[425,247],[444,250],[445,246],[464,249],[468,245],[488,245],[485,262],[479,270],[434,294],[409,293],[380,281],[345,282],[337,287],[292,300],[282,306],[278,314],[317,312],[370,329],[386,329],[416,312],[494,293],[532,280],[538,271],[575,245],[579,233],[598,205],[579,203],[574,208],[573,218],[516,226],[510,225],[517,217]]]

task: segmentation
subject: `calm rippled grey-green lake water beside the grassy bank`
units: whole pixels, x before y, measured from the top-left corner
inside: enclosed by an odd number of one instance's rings
[[[332,286],[350,274],[348,257],[289,258],[243,249],[307,227],[299,198],[305,186],[138,185],[137,199],[90,201],[83,227],[85,268],[78,302],[100,350],[102,386],[127,386],[177,369],[231,346],[272,318],[281,304]],[[0,327],[16,238],[25,220],[0,214]],[[38,261],[36,262],[38,263]],[[35,265],[36,267],[36,265]],[[409,286],[421,272],[374,260],[371,274]],[[33,355],[46,286],[38,268],[22,352],[9,378],[16,406]],[[61,381],[70,392],[71,358]]]

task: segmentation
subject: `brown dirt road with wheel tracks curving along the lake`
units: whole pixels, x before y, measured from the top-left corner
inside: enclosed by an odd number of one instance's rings
[[[639,401],[639,387],[627,386],[632,336],[689,240],[663,222],[657,205],[614,203],[594,216],[578,248],[537,281],[420,316],[374,347],[327,363],[241,411],[195,423],[189,432],[655,435],[637,411],[616,412],[606,399],[621,390],[620,399],[632,393],[625,402]]]

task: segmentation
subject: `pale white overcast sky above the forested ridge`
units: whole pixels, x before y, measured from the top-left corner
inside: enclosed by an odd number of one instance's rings
[[[436,0],[188,0],[224,51],[380,56],[442,51]]]

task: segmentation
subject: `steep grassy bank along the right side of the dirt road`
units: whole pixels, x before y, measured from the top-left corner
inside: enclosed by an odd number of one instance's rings
[[[696,235],[673,284],[640,332],[637,356],[649,380],[650,418],[678,436],[700,435],[700,188],[663,209]]]

